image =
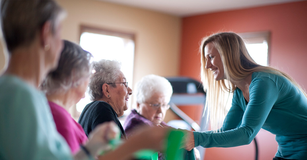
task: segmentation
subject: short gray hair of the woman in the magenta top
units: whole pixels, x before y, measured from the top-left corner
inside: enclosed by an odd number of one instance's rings
[[[58,67],[49,72],[41,85],[47,95],[68,91],[90,76],[92,54],[78,44],[64,40]]]

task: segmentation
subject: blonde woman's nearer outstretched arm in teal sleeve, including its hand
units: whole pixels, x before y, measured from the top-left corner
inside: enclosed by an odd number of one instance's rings
[[[242,95],[242,94],[241,94]],[[274,103],[278,98],[278,89],[275,82],[267,77],[255,78],[250,86],[250,101],[245,105],[243,95],[240,98],[241,104],[232,104],[232,107],[238,108],[242,106],[245,111],[242,116],[242,122],[235,128],[233,123],[233,115],[229,112],[226,116],[227,130],[223,132],[192,132],[187,131],[188,140],[186,141],[186,149],[191,150],[192,147],[236,147],[251,143],[256,134],[263,126],[269,115]],[[239,98],[238,98],[239,99]],[[233,101],[234,102],[234,101]],[[246,107],[246,108],[244,108]],[[233,129],[231,129],[233,128]],[[193,133],[193,135],[192,135]],[[192,146],[194,142],[195,146]]]

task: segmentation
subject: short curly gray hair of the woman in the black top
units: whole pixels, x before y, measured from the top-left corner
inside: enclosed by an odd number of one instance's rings
[[[98,62],[93,62],[95,74],[91,77],[88,84],[89,95],[92,101],[97,101],[103,97],[102,85],[105,83],[114,83],[119,78],[121,63],[119,61],[110,61],[102,59]],[[115,84],[111,84],[115,87]]]

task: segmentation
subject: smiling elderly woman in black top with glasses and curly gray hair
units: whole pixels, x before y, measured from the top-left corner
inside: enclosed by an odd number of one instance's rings
[[[85,106],[78,121],[87,136],[97,125],[114,121],[121,130],[121,138],[127,139],[118,117],[128,109],[132,89],[128,87],[120,67],[118,61],[103,59],[93,63],[96,72],[89,82],[89,93],[93,102]]]

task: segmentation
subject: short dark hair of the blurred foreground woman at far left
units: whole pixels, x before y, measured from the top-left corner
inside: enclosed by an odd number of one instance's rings
[[[33,42],[46,21],[51,21],[52,33],[66,12],[54,0],[1,1],[1,24],[9,53]]]

